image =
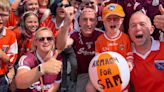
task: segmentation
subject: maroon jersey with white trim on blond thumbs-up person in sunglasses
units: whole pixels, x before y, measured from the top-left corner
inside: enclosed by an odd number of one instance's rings
[[[53,56],[53,53],[52,53]],[[26,69],[32,69],[36,66],[38,66],[40,63],[44,63],[44,61],[41,59],[41,57],[39,56],[39,54],[35,53],[35,52],[28,52],[26,55],[23,55],[20,60],[19,60],[19,67],[18,69],[21,68],[26,68]],[[51,86],[53,85],[54,82],[60,82],[61,76],[60,74],[58,75],[48,75],[45,74],[42,76],[43,79],[43,84],[44,84],[44,89],[45,92],[51,88]],[[37,91],[41,91],[41,82],[40,80],[38,80],[37,82],[33,83],[31,85],[30,88],[25,89],[25,90],[17,90],[17,92],[37,92]]]

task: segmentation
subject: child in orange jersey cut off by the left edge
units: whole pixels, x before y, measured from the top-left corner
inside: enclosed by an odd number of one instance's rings
[[[18,54],[18,45],[14,32],[6,28],[11,12],[8,0],[0,0],[0,90],[7,92],[13,79],[13,72],[8,72],[13,66]],[[7,73],[8,72],[8,73]]]

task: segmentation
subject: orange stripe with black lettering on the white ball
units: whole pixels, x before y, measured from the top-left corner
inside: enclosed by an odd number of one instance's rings
[[[98,57],[97,74],[98,84],[104,92],[121,92],[121,76],[116,63],[117,59],[108,53]]]

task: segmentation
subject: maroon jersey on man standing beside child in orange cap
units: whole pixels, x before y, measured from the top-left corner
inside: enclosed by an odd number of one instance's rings
[[[78,74],[88,73],[89,63],[95,56],[95,41],[102,33],[95,30],[92,37],[84,37],[81,32],[74,32],[71,35],[74,40],[73,48],[78,64]]]

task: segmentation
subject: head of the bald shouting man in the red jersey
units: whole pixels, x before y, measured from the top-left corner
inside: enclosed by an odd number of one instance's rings
[[[149,19],[145,15],[138,13],[131,17],[128,32],[131,40],[136,45],[145,45],[150,40],[150,34],[153,30],[153,26],[151,26]]]

